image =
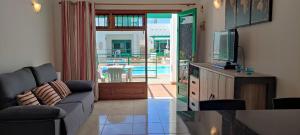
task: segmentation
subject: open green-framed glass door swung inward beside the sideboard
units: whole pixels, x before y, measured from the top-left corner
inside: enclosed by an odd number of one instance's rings
[[[188,66],[193,61],[196,47],[197,10],[191,9],[178,14],[178,78],[177,99],[188,103]]]

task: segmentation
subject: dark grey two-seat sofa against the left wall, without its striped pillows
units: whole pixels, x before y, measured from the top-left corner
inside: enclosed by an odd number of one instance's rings
[[[75,135],[93,110],[91,81],[66,82],[72,94],[54,107],[18,106],[16,95],[57,79],[51,64],[0,75],[1,135]]]

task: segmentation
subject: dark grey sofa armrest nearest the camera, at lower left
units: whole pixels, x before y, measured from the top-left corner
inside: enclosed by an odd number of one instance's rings
[[[45,105],[14,106],[0,111],[0,121],[60,119],[66,112],[58,107]]]

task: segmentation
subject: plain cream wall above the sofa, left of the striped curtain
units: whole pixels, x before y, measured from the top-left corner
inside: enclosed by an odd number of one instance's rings
[[[0,1],[0,73],[53,60],[53,1],[39,2],[36,14],[31,0]]]

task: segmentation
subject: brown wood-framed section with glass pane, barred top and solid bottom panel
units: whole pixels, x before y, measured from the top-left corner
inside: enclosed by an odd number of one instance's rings
[[[101,100],[147,98],[146,16],[96,11],[98,85]]]

